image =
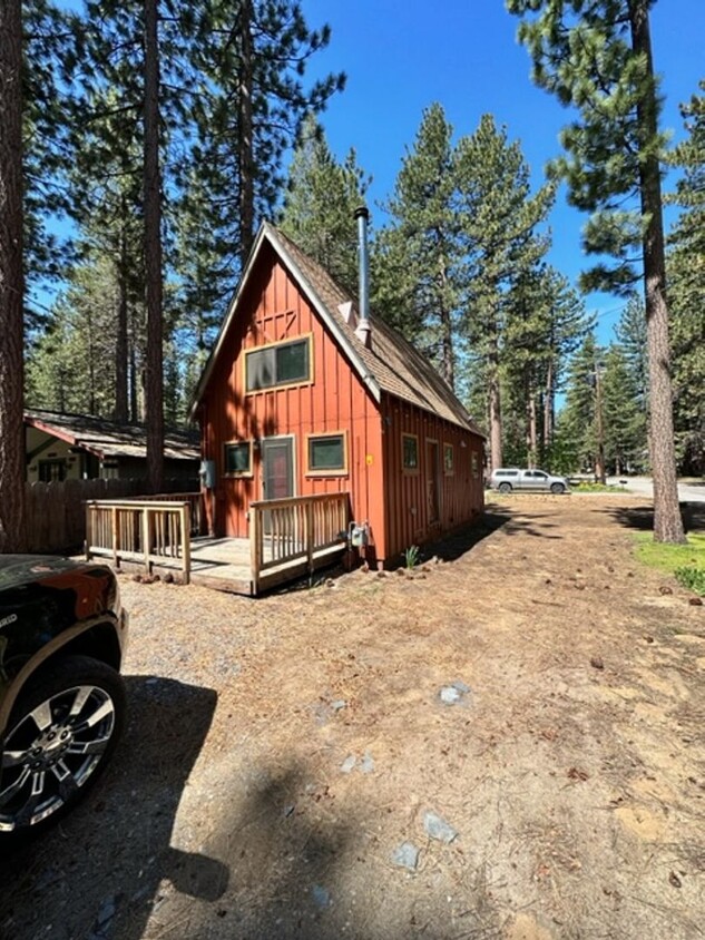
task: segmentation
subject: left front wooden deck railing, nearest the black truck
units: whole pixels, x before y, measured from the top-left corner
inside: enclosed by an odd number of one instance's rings
[[[170,496],[169,496],[170,499]],[[91,500],[86,503],[86,557],[143,562],[146,571],[165,558],[180,559],[190,578],[190,501]]]

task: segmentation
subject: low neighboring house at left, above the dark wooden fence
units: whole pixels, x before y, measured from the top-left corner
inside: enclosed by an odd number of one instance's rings
[[[146,431],[136,424],[31,410],[25,412],[25,442],[30,483],[147,477]],[[164,478],[193,483],[198,466],[197,435],[167,432]]]

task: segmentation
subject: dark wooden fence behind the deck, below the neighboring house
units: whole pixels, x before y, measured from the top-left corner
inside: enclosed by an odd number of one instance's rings
[[[165,490],[168,495],[146,498],[172,499],[170,491],[183,487],[180,480],[167,480]],[[37,554],[80,550],[86,541],[87,501],[141,497],[146,489],[147,481],[139,479],[26,483],[27,550]],[[183,493],[176,496],[185,499]],[[200,526],[200,506],[194,517],[194,525]]]

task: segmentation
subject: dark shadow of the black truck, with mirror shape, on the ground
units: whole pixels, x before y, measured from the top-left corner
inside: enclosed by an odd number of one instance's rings
[[[126,676],[128,727],[84,803],[43,835],[0,859],[0,937],[102,940],[129,910],[120,940],[139,940],[166,879],[215,901],[228,871],[170,846],[184,786],[210,727],[212,689]]]

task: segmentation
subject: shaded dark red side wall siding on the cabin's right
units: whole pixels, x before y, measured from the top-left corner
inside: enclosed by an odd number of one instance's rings
[[[385,529],[388,565],[403,564],[412,545],[433,540],[442,532],[476,520],[483,511],[483,442],[478,434],[445,421],[392,395],[382,400],[385,477]],[[417,471],[403,467],[402,437],[412,434],[419,444]],[[438,443],[439,517],[430,518],[429,442]],[[443,447],[453,449],[453,469],[447,472]],[[472,457],[474,454],[474,459]]]

